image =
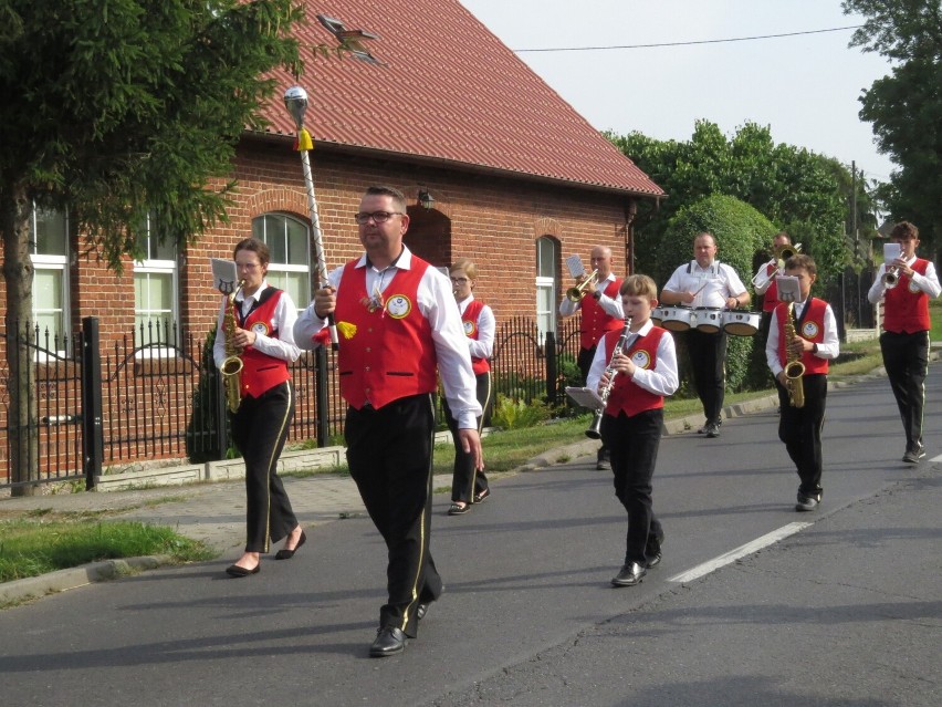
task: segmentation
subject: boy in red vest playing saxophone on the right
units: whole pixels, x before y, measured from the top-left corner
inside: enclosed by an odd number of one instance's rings
[[[785,262],[785,274],[797,278],[797,302],[778,302],[772,312],[765,358],[775,386],[782,414],[778,438],[785,444],[798,471],[796,511],[813,511],[821,501],[821,429],[827,402],[828,362],[840,353],[837,320],[830,304],[810,297],[817,279],[817,266],[810,256],[796,254]],[[789,326],[789,319],[791,326]],[[804,403],[794,405],[789,394],[786,364],[804,365],[800,385]]]

